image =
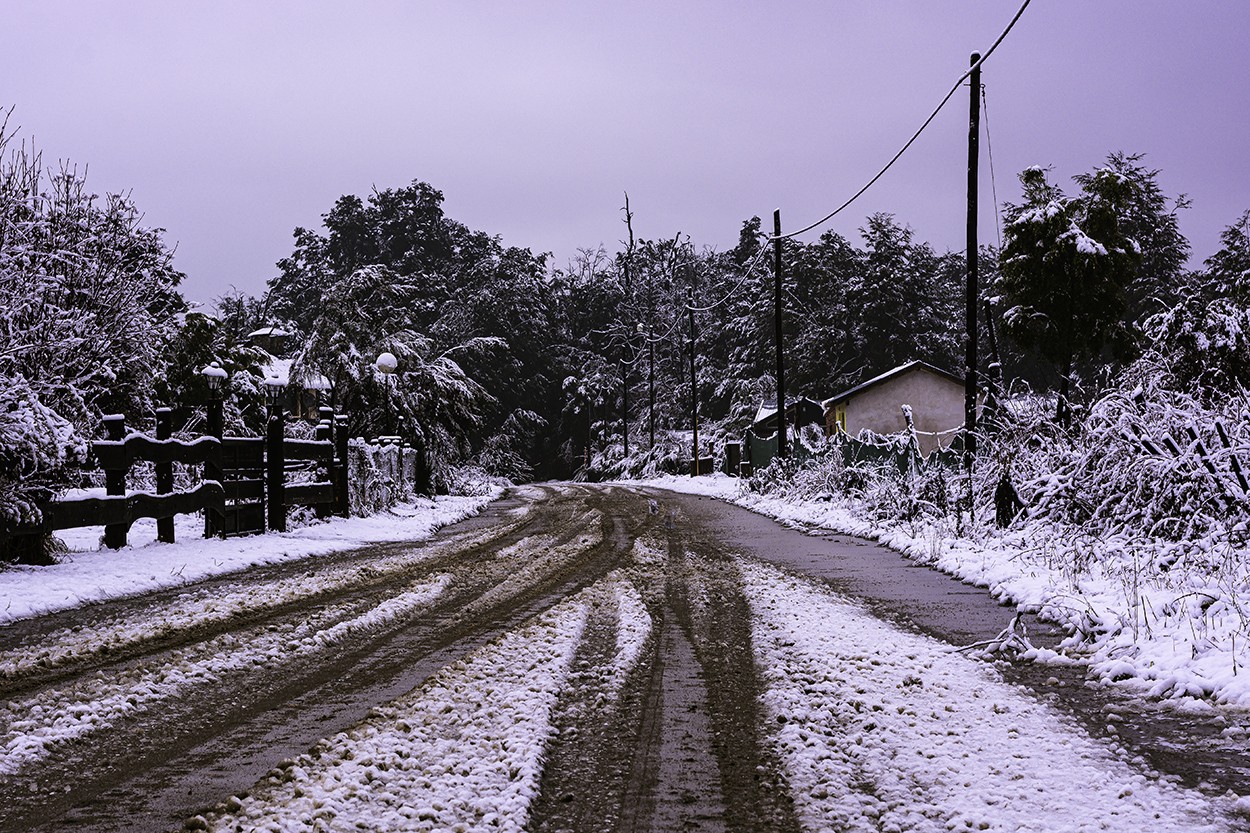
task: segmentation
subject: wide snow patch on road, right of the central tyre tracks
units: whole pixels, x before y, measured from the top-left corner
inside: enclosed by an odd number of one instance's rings
[[[984,663],[742,562],[764,704],[809,829],[1220,830]]]

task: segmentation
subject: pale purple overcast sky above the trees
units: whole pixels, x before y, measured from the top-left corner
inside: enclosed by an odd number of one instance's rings
[[[0,105],[45,161],[131,190],[188,298],[259,293],[342,194],[422,179],[448,214],[551,251],[725,249],[820,218],[898,150],[1016,0],[169,3],[9,0]],[[1034,0],[985,65],[999,200],[1144,151],[1195,263],[1250,208],[1250,3]],[[966,94],[830,228],[892,211],[964,246]],[[981,229],[992,241],[982,135]],[[811,239],[809,235],[808,239]]]

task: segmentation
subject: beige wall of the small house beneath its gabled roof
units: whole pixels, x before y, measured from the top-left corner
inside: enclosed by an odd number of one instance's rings
[[[855,437],[865,428],[878,434],[906,430],[902,405],[911,405],[921,454],[945,448],[954,438],[954,434],[931,437],[925,432],[950,432],[964,424],[964,386],[918,368],[846,400],[846,433]]]

